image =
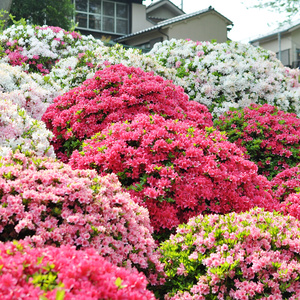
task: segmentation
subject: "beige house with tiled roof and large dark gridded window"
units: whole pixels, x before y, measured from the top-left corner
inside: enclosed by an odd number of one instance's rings
[[[212,7],[186,14],[170,0],[149,6],[143,0],[73,0],[76,29],[141,48],[152,48],[166,39],[227,41],[233,23]]]

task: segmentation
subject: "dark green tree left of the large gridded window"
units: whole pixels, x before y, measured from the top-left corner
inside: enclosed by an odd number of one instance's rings
[[[25,18],[30,24],[70,30],[75,8],[70,0],[12,0],[10,13],[17,20]]]

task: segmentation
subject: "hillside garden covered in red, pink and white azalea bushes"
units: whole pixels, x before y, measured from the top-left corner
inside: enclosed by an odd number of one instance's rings
[[[300,299],[299,70],[24,24],[0,49],[1,299]]]

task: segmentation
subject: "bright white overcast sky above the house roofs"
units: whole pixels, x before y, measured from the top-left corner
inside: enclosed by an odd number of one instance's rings
[[[153,0],[156,2],[158,0]],[[181,8],[181,0],[171,0]],[[244,2],[244,3],[242,3]],[[247,9],[255,0],[183,0],[183,10],[186,13],[206,9],[210,5],[224,17],[233,22],[233,28],[228,37],[235,41],[247,43],[249,40],[264,35],[278,27],[277,21],[283,21],[284,15],[262,9]],[[151,4],[151,0],[143,2]],[[271,26],[268,26],[268,23]]]

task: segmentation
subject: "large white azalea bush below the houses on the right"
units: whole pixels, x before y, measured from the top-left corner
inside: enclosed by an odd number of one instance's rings
[[[299,70],[286,68],[275,53],[239,42],[164,41],[149,53],[175,68],[190,99],[214,116],[251,103],[276,105],[300,116]]]

